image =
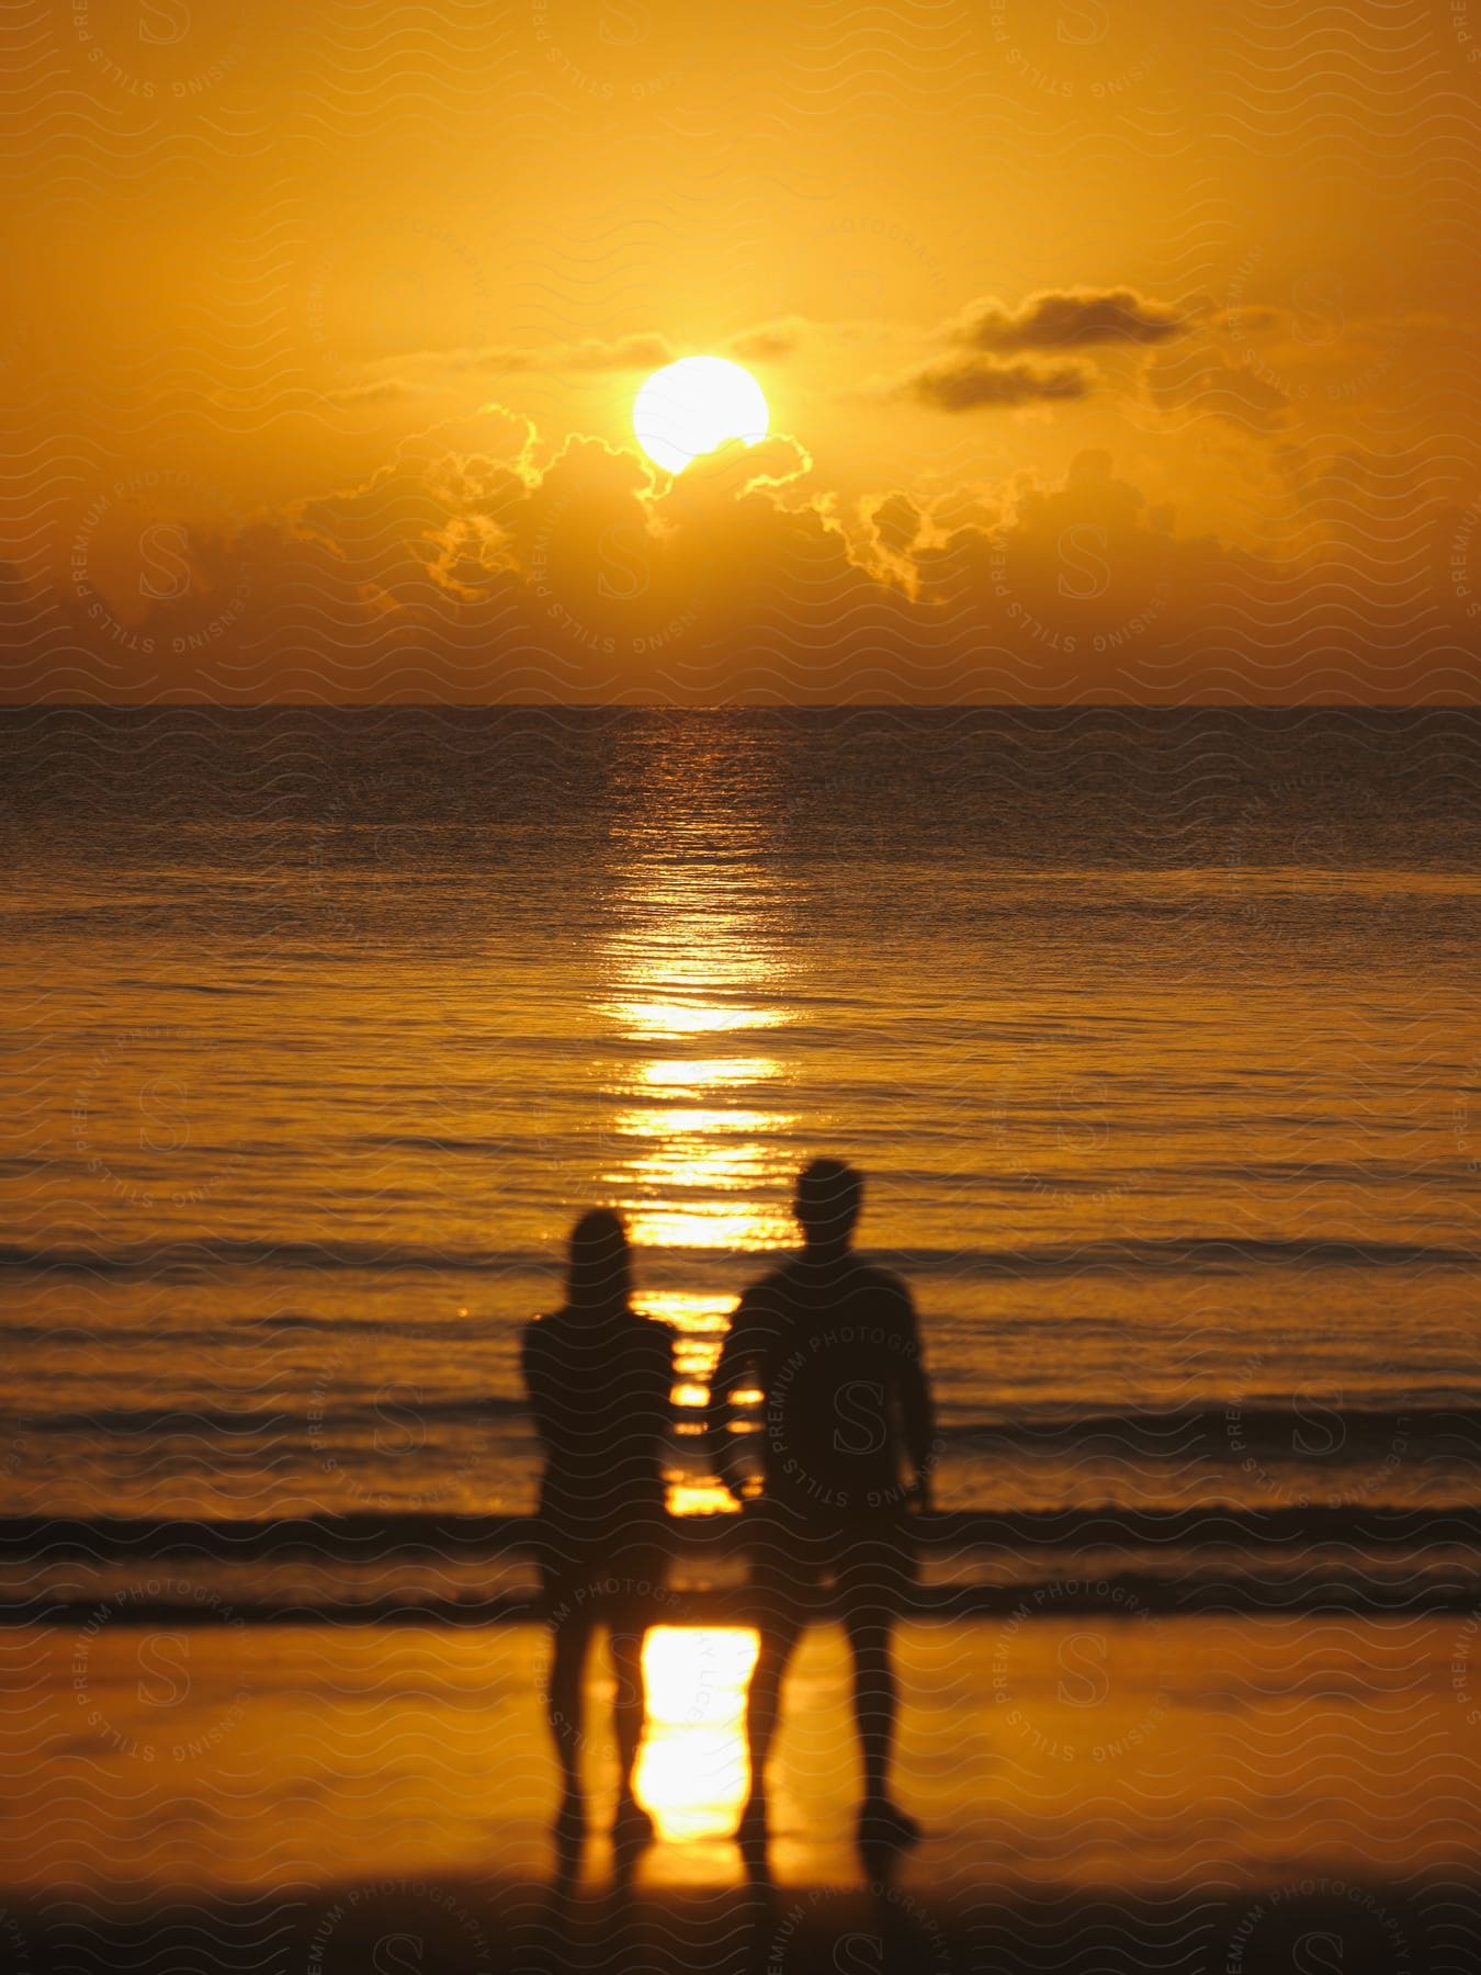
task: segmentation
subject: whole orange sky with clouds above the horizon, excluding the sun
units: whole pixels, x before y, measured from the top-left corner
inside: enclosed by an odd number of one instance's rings
[[[1475,697],[1481,0],[12,36],[10,701]]]

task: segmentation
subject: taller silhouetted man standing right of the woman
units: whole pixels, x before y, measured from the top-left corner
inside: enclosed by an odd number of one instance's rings
[[[750,1799],[739,1831],[752,1843],[766,1837],[766,1756],[782,1675],[808,1594],[829,1576],[853,1649],[865,1772],[859,1839],[918,1837],[889,1795],[891,1621],[914,1578],[908,1511],[930,1501],[932,1404],[910,1292],[849,1246],[861,1199],[863,1179],[841,1159],[816,1159],[800,1175],[804,1250],[740,1298],[711,1386],[711,1450],[737,1495],[746,1436],[729,1430],[739,1424],[731,1408],[739,1392],[762,1394],[764,1481],[760,1501],[746,1507],[760,1657],[746,1710]]]

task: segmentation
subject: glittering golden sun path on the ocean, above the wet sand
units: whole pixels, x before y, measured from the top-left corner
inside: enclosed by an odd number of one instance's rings
[[[699,1258],[735,1256],[739,1290],[754,1272],[746,1256],[794,1240],[800,1120],[766,1102],[792,1074],[788,1031],[802,1019],[788,995],[782,893],[764,824],[754,810],[737,824],[729,800],[711,814],[703,762],[656,749],[638,772],[652,800],[628,837],[598,1003],[620,1045],[600,1183],[636,1248],[683,1256],[685,1274]],[[638,1274],[654,1274],[642,1258]],[[675,1331],[669,1507],[733,1509],[699,1458],[699,1420],[735,1292],[646,1292],[640,1305]]]

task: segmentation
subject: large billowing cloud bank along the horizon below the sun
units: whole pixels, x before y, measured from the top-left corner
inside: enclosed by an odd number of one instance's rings
[[[138,567],[99,567],[85,594],[65,557],[49,585],[0,585],[28,668],[12,697],[51,679],[235,703],[1402,703],[1459,677],[1469,519],[1436,537],[1418,638],[1412,587],[1374,563],[1388,476],[1282,456],[1315,506],[1305,547],[1274,555],[1179,533],[1104,450],[845,512],[788,438],[669,480],[596,438],[551,450],[494,407],[237,533],[182,515],[166,547],[188,583],[142,614],[136,531]]]

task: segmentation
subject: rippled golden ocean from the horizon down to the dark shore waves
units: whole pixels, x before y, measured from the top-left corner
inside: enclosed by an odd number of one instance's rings
[[[1475,713],[51,707],[0,758],[12,1596],[47,1519],[525,1515],[596,1203],[717,1509],[816,1153],[944,1511],[1471,1568]]]

